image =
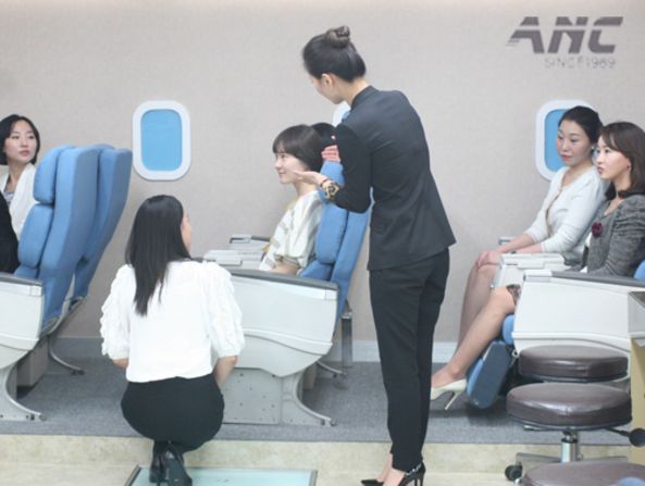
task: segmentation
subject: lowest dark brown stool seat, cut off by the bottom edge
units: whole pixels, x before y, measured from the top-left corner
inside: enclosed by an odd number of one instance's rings
[[[529,471],[523,486],[613,486],[625,477],[645,479],[645,466],[629,462],[582,461],[548,464]]]

